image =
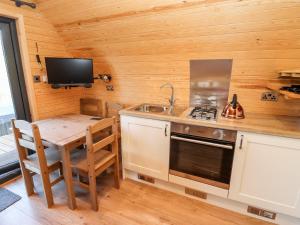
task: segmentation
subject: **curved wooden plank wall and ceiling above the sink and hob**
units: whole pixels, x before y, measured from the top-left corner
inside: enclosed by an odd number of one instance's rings
[[[300,115],[300,103],[262,102],[277,71],[300,68],[300,2],[286,0],[37,0],[73,56],[92,57],[95,73],[111,73],[85,95],[125,104],[188,105],[189,60],[232,58],[230,94],[246,113]],[[38,28],[35,28],[38,29]],[[43,89],[44,90],[44,89]]]

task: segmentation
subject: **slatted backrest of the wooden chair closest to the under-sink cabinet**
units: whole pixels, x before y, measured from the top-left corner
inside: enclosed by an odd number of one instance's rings
[[[95,135],[99,134],[101,131],[107,133],[108,129],[111,129],[109,135],[101,140],[94,142]],[[97,151],[100,151],[104,147],[111,145],[112,146],[112,153],[117,155],[118,154],[118,126],[115,117],[112,118],[105,118],[96,123],[93,126],[89,126],[86,132],[86,145],[87,145],[87,160],[89,165],[89,171],[95,170],[95,157],[94,154]]]

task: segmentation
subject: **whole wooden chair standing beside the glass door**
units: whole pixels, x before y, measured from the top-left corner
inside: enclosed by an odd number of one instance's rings
[[[53,205],[51,187],[64,179],[60,154],[57,149],[44,148],[46,144],[41,139],[37,125],[23,120],[12,120],[12,128],[27,195],[34,193],[32,176],[39,174],[42,177],[47,206],[50,208]],[[28,155],[28,149],[34,151],[34,154]],[[50,173],[56,170],[59,170],[60,176],[51,181]]]

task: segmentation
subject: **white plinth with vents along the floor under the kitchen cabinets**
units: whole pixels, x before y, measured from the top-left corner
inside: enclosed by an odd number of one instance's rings
[[[259,216],[256,216],[254,214],[248,213],[247,212],[248,205],[237,202],[237,201],[233,201],[233,200],[230,200],[230,199],[225,199],[225,198],[218,197],[218,196],[211,195],[211,194],[207,194],[207,199],[205,199],[205,200],[200,199],[200,198],[196,198],[192,195],[187,195],[185,193],[185,187],[183,187],[181,185],[173,184],[173,183],[162,181],[162,180],[159,180],[159,179],[155,179],[154,184],[152,184],[152,183],[149,183],[149,182],[138,179],[138,174],[136,172],[126,170],[126,169],[124,169],[123,172],[124,172],[123,173],[123,179],[125,179],[125,178],[132,179],[132,180],[144,183],[144,184],[148,184],[148,185],[160,188],[160,189],[171,191],[171,192],[176,193],[176,194],[184,195],[184,196],[189,197],[189,198],[193,198],[193,199],[196,199],[196,200],[199,200],[199,201],[203,201],[203,202],[206,202],[208,204],[216,205],[216,206],[219,206],[219,207],[222,207],[222,208],[225,208],[225,209],[229,209],[229,210],[232,210],[232,211],[235,211],[235,212],[247,215],[247,216],[255,217],[255,218],[258,218],[258,219],[261,219],[261,220],[265,220],[265,221],[268,221],[268,222],[271,222],[271,223],[274,223],[274,224],[279,224],[279,225],[300,225],[300,219],[298,219],[298,218],[294,218],[294,217],[291,217],[291,216],[287,216],[287,215],[283,215],[283,214],[278,213],[275,220],[270,220],[270,219],[267,219],[267,218],[264,218],[264,217],[259,217]]]

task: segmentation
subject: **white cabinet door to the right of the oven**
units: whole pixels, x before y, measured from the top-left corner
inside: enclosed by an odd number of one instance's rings
[[[300,217],[300,139],[239,132],[229,198]]]

